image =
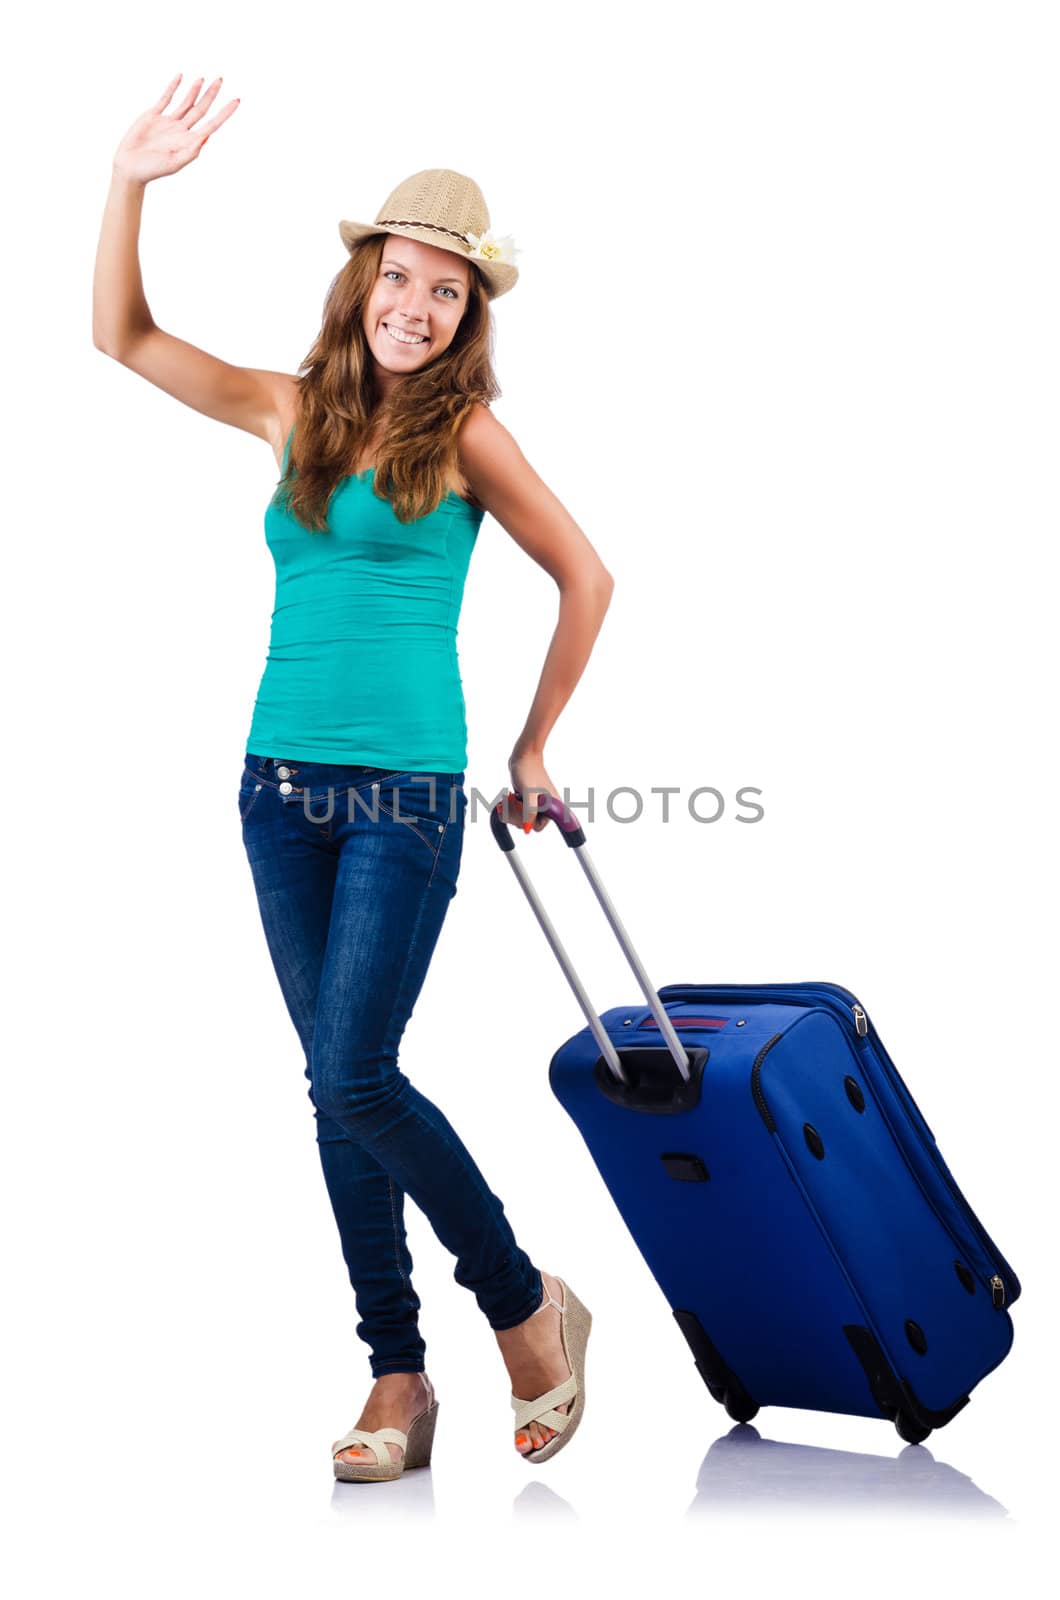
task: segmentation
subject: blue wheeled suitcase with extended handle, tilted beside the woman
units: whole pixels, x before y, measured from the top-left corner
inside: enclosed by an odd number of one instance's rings
[[[517,798],[512,795],[512,798]],[[975,1218],[865,1006],[839,984],[655,994],[557,797],[645,1005],[592,1010],[509,832],[490,829],[588,1027],[552,1056],[573,1118],[711,1395],[889,1418],[919,1443],[1012,1344],[1020,1283]]]

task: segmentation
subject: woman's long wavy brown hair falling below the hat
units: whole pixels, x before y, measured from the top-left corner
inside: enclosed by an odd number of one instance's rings
[[[357,240],[331,282],[320,333],[298,370],[298,421],[275,496],[311,533],[327,531],[327,507],[381,419],[383,394],[363,331],[387,234]],[[442,502],[458,467],[456,435],[477,400],[500,395],[493,374],[490,299],[469,262],[468,304],[448,349],[394,386],[376,450],[373,490],[399,522]]]

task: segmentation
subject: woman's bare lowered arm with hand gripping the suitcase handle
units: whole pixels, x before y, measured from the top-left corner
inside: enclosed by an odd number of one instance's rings
[[[541,667],[541,680],[508,762],[512,789],[527,795],[509,802],[512,822],[533,818],[533,792],[559,795],[544,770],[544,741],[570,699],[592,654],[612,600],[615,579],[573,517],[533,470],[519,445],[485,405],[476,405],[460,432],[460,469],[476,499],[516,544],[554,579],[559,621]]]

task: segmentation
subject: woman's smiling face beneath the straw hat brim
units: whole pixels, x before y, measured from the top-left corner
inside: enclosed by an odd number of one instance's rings
[[[452,344],[468,307],[469,272],[452,250],[387,234],[363,312],[365,338],[384,387]]]

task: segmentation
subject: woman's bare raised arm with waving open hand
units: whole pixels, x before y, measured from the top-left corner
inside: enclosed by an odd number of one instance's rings
[[[175,400],[240,427],[282,448],[296,379],[256,366],[232,366],[159,328],[144,298],[139,272],[139,219],[144,190],[154,178],[181,171],[199,157],[210,134],[232,115],[239,101],[203,128],[195,126],[213,104],[221,78],[197,101],[202,78],[192,83],[171,115],[163,114],[179,74],[162,98],[138,117],[122,139],[102,213],[93,277],[93,342],[104,355],[139,373]]]

